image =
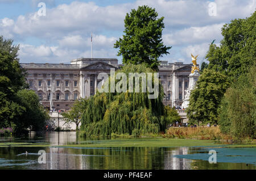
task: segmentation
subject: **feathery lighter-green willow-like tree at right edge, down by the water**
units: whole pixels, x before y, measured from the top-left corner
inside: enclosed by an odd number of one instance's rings
[[[226,91],[221,102],[221,131],[230,133],[238,140],[256,137],[256,66],[242,75]]]

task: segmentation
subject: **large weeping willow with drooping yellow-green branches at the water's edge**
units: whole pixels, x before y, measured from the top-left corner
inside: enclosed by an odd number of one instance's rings
[[[150,68],[146,68],[144,64],[133,65],[127,64],[121,70],[115,71],[125,73],[127,82],[133,82],[135,79],[129,80],[129,73],[155,73]],[[106,83],[110,85],[113,77],[109,78]],[[158,79],[158,78],[157,78]],[[114,78],[115,85],[118,85],[118,80]],[[152,77],[152,85],[155,78]],[[142,91],[142,78],[139,78],[140,91],[135,92],[129,90],[128,83],[127,91],[125,92],[98,92],[88,99],[88,106],[82,114],[81,131],[84,131],[85,136],[111,136],[115,134],[132,134],[139,136],[143,134],[157,134],[166,129],[166,119],[164,117],[163,88],[159,81],[159,94],[156,99],[149,99],[148,92]],[[147,82],[148,84],[148,82]],[[155,86],[155,85],[154,85]],[[122,85],[123,88],[123,85]]]

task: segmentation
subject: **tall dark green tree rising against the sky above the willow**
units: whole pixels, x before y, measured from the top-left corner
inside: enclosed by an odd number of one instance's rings
[[[114,48],[119,48],[118,56],[122,55],[123,64],[142,64],[158,70],[159,57],[168,54],[162,41],[164,28],[163,19],[157,19],[158,13],[148,6],[139,6],[131,10],[125,17],[125,35],[120,38]]]

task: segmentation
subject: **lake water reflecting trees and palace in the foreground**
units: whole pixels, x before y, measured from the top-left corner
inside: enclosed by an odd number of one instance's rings
[[[93,139],[89,139],[93,143]],[[88,141],[76,132],[31,132],[29,137],[6,138],[3,142],[50,144],[47,147],[0,147],[0,169],[256,169],[256,148],[221,146],[79,148]],[[103,140],[104,141],[104,140]],[[46,151],[46,163],[39,163],[39,150]],[[209,163],[209,150],[217,163]],[[27,151],[27,154],[26,154]]]

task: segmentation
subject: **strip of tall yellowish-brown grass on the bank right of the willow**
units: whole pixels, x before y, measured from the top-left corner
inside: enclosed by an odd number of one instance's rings
[[[227,134],[222,134],[219,127],[171,127],[166,133],[169,138],[194,138],[198,140],[232,140]]]

